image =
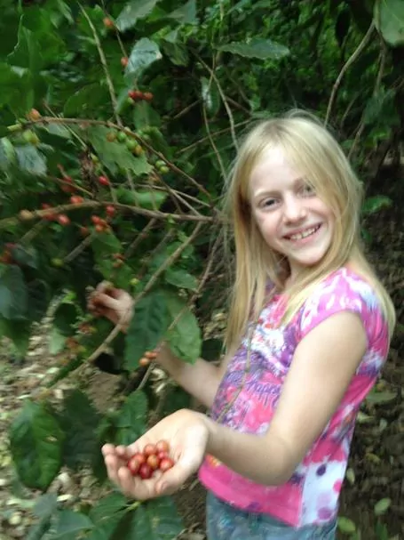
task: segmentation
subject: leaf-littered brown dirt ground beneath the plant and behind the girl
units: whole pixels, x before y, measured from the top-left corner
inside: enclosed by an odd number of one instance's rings
[[[404,185],[404,182],[401,182]],[[375,187],[377,189],[377,187]],[[385,189],[383,191],[385,193]],[[376,399],[362,408],[353,439],[349,470],[343,489],[340,516],[350,518],[360,529],[362,540],[404,540],[404,210],[395,193],[392,208],[365,222],[372,240],[369,254],[392,294],[398,321],[383,378],[377,384]],[[36,493],[21,488],[12,470],[7,431],[24,398],[36,393],[41,382],[54,369],[46,348],[46,327],[38,327],[25,363],[12,364],[10,347],[0,348],[0,540],[26,538],[32,522],[31,508]],[[99,408],[108,407],[116,377],[89,368],[90,393]],[[54,398],[74,386],[75,380],[59,384]],[[51,489],[65,497],[92,502],[102,495],[90,471],[71,475],[62,471]],[[388,511],[376,518],[375,504],[391,499]],[[182,540],[203,540],[205,491],[197,480],[190,480],[175,496],[186,530]],[[376,533],[376,522],[385,524],[388,534]],[[380,527],[380,524],[379,524]],[[345,538],[340,534],[340,538]]]

